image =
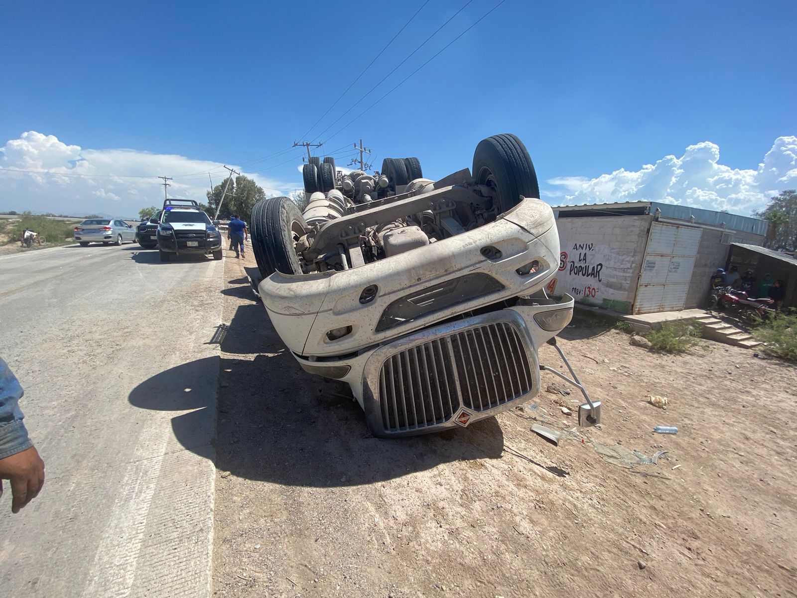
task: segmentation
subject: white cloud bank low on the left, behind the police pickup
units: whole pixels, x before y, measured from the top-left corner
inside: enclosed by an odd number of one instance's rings
[[[228,165],[254,179],[266,196],[285,195],[296,187],[296,182],[283,183]],[[157,175],[174,177],[169,181],[170,197],[204,201],[210,187],[207,172],[216,185],[227,173],[221,163],[210,160],[130,149],[84,149],[35,131],[0,148],[0,168],[46,173],[0,170],[0,210],[122,217],[163,203]]]

